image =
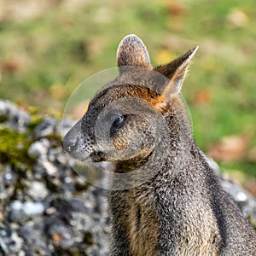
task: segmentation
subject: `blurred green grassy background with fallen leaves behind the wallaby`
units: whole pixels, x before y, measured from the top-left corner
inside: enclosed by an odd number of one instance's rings
[[[255,0],[0,1],[0,97],[61,117],[135,33],[154,65],[200,45],[183,85],[201,149],[256,195]],[[84,96],[86,97],[86,96]]]

